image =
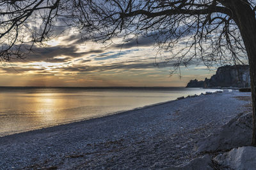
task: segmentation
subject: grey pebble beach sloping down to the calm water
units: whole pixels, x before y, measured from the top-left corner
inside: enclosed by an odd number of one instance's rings
[[[0,169],[161,169],[187,162],[195,143],[244,111],[223,92],[0,138]]]

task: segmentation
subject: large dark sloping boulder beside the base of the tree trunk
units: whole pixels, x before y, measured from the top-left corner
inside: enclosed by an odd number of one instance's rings
[[[250,145],[252,138],[252,113],[240,114],[223,125],[219,132],[196,145],[196,154],[229,150]]]

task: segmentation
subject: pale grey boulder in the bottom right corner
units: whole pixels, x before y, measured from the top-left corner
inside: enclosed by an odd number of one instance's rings
[[[243,146],[234,148],[230,152],[217,155],[214,158],[220,166],[229,167],[236,170],[256,169],[256,148],[253,146]]]

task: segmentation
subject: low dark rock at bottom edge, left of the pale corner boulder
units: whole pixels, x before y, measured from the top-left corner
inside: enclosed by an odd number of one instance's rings
[[[203,157],[199,157],[196,159],[191,160],[185,164],[181,164],[180,166],[176,167],[168,167],[168,170],[210,170],[213,169],[213,164],[211,157],[207,154]]]

